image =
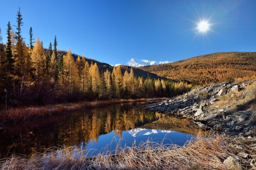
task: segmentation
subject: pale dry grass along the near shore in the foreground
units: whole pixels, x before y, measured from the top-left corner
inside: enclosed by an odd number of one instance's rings
[[[69,147],[44,154],[33,154],[29,159],[12,156],[0,164],[1,169],[227,169],[223,164],[228,156],[234,156],[228,136],[199,132],[183,147],[150,141],[138,147],[117,147],[115,153],[106,151],[90,158],[84,151],[74,152]],[[243,152],[253,153],[243,149]],[[106,155],[109,154],[109,155]],[[255,155],[254,155],[255,157]],[[241,160],[243,160],[241,158]],[[241,169],[241,165],[233,167]],[[231,168],[231,169],[233,169]]]

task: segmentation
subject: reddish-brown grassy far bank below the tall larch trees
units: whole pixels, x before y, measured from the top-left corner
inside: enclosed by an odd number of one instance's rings
[[[106,100],[106,101],[89,101],[79,103],[65,103],[47,106],[32,106],[26,108],[9,108],[0,111],[0,123],[18,123],[29,122],[33,119],[42,119],[49,116],[65,114],[72,111],[92,109],[96,107],[103,107],[121,103],[129,102],[159,102],[164,101],[166,98],[154,99],[120,99],[120,100]]]

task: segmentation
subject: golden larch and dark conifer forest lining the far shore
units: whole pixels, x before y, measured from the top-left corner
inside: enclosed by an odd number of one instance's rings
[[[23,18],[16,14],[16,31],[7,23],[7,42],[0,40],[0,104],[2,107],[44,105],[98,99],[174,96],[190,90],[186,82],[136,76],[133,68],[113,70],[57,50],[57,39],[45,49],[29,30],[22,37]],[[0,33],[1,35],[1,33]],[[27,46],[28,45],[28,46]],[[125,70],[125,71],[124,71]],[[129,70],[129,71],[127,71]],[[137,69],[136,69],[137,70]]]

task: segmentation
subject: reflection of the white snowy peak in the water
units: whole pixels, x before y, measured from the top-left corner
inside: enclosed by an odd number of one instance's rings
[[[173,131],[136,128],[136,129],[128,130],[127,132],[130,133],[133,137],[136,137],[136,136],[150,135],[155,133],[171,133]]]

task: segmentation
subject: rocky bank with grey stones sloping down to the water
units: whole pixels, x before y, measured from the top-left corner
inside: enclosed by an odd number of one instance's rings
[[[198,128],[230,136],[229,147],[246,146],[253,150],[253,155],[243,156],[247,164],[252,163],[256,168],[256,80],[200,87],[175,99],[141,108],[190,119]],[[238,141],[240,144],[234,144]]]

